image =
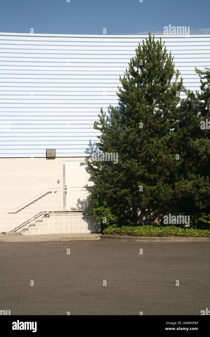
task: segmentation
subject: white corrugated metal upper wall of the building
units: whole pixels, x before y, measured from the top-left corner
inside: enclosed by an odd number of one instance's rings
[[[118,105],[119,75],[146,37],[0,33],[0,157],[87,156],[93,122]],[[194,67],[210,67],[210,35],[163,40],[184,85],[199,90]]]

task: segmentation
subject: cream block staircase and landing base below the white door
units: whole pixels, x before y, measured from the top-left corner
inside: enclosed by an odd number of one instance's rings
[[[21,235],[40,234],[88,234],[100,233],[100,225],[90,212],[49,212],[27,228],[21,230]]]

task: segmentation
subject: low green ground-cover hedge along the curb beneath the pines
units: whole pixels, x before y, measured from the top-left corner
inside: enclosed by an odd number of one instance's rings
[[[104,235],[121,235],[121,236],[188,236],[188,237],[209,237],[209,229],[181,228],[176,226],[109,226],[102,232]]]

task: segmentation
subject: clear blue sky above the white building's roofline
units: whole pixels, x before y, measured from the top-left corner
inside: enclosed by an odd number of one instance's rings
[[[68,0],[69,1],[69,0]],[[164,26],[210,34],[210,0],[1,0],[0,32],[163,34]]]

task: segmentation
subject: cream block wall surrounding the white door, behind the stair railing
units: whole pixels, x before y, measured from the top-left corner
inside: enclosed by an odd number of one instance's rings
[[[16,209],[49,187],[63,187],[63,163],[81,165],[87,160],[88,157],[0,158],[0,232],[6,231],[6,207]],[[92,186],[87,170],[86,186]],[[62,189],[58,191],[63,193]],[[62,208],[61,198],[60,202]]]

